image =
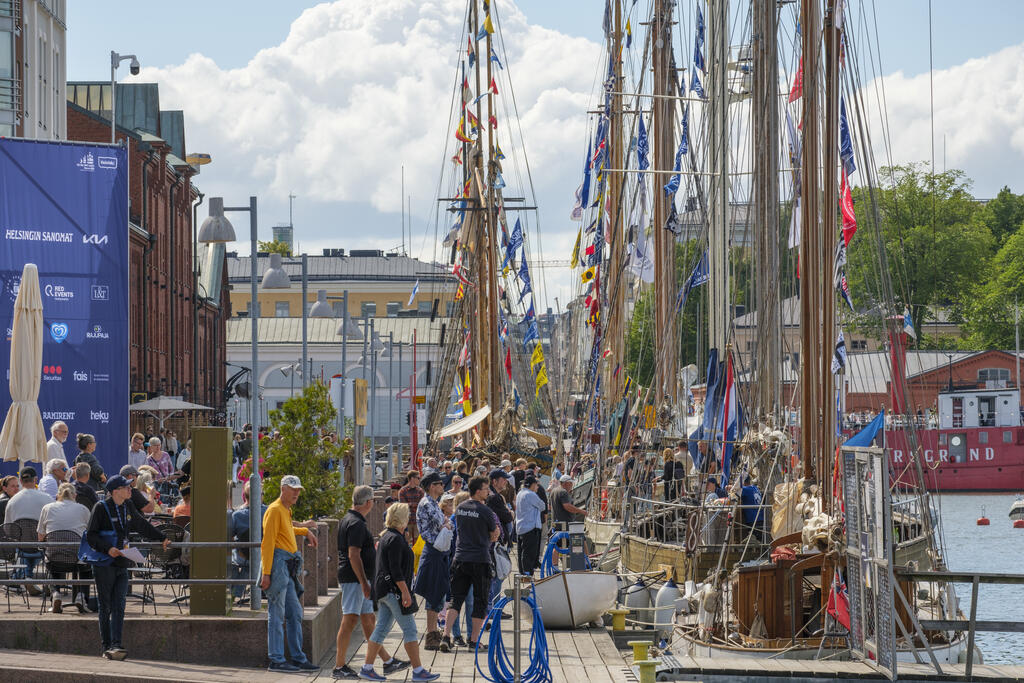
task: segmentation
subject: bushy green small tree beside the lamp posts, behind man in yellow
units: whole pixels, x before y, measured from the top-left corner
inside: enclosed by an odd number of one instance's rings
[[[295,519],[325,517],[347,507],[345,498],[350,495],[350,487],[342,488],[338,472],[329,465],[332,461],[340,463],[351,454],[352,443],[348,439],[332,443],[319,436],[334,430],[335,415],[328,388],[318,380],[280,409],[270,411],[270,426],[281,432],[281,437],[260,441],[261,455],[265,454],[265,503],[278,497],[281,477],[295,474],[304,487],[292,509]]]

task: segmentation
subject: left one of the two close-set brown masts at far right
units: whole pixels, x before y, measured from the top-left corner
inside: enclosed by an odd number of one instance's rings
[[[818,0],[801,0],[803,53],[803,164],[800,169],[800,455],[808,482],[820,474],[815,463],[820,455],[821,333],[820,246],[818,236],[820,183],[818,182],[818,46],[821,22]]]

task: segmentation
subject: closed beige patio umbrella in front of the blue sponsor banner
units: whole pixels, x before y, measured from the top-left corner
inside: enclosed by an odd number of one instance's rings
[[[46,461],[46,435],[39,414],[43,369],[43,299],[39,270],[26,263],[14,300],[10,338],[10,410],[0,431],[0,460]]]

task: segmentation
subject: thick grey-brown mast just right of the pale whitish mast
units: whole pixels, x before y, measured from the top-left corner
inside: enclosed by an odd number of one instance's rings
[[[781,424],[781,296],[778,225],[778,14],[775,3],[754,11],[754,220],[757,249],[757,410],[755,417]]]

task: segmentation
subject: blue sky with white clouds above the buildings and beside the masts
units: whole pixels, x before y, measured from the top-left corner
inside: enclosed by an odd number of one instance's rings
[[[603,3],[496,2],[538,189],[543,242],[531,257],[566,259]],[[1004,184],[1024,190],[1018,0],[877,2],[894,161],[931,154],[929,4],[937,165],[944,140],[946,166],[964,169],[977,196]],[[441,258],[433,221],[464,7],[464,0],[180,0],[172,12],[160,3],[79,0],[68,7],[68,75],[104,80],[112,49],[137,54],[141,74],[132,78],[125,67],[119,79],[157,82],[161,106],[184,110],[187,151],[213,157],[196,183],[229,205],[256,195],[260,239],[288,221],[294,194],[296,240],[308,253],[404,241],[413,256]],[[634,35],[641,31],[634,25]],[[402,167],[412,238],[402,237]],[[237,246],[245,254],[243,240]],[[552,278],[549,294],[564,297],[563,275]]]

